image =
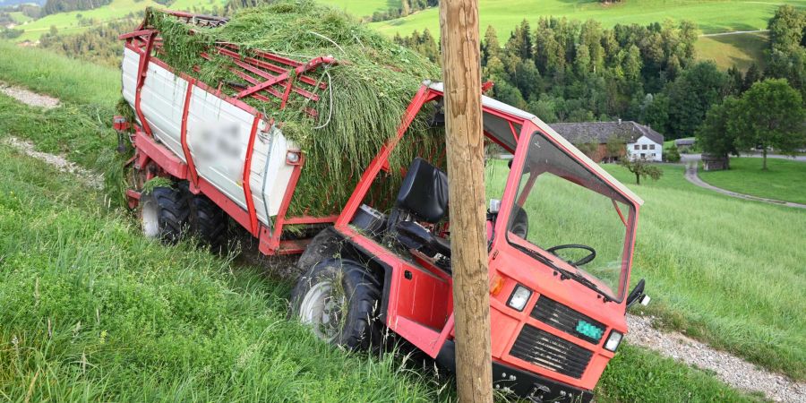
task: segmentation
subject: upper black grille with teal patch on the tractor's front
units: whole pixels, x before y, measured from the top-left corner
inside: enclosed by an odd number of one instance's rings
[[[531,316],[540,322],[562,330],[579,339],[599,344],[604,336],[605,326],[586,315],[570,309],[546,296],[537,298]]]

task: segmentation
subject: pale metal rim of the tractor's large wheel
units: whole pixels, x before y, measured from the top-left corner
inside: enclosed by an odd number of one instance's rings
[[[313,333],[325,341],[333,341],[341,330],[342,308],[346,298],[339,295],[330,281],[316,283],[305,293],[299,316],[311,325]]]

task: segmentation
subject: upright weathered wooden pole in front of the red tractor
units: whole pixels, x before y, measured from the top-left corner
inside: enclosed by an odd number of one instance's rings
[[[478,0],[442,0],[450,256],[459,401],[492,402]]]

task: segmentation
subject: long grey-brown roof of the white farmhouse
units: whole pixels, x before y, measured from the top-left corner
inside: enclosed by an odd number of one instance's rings
[[[635,142],[641,136],[647,136],[649,140],[658,144],[664,142],[663,134],[657,133],[651,127],[632,121],[556,123],[551,126],[571,143],[596,141],[603,144],[613,136],[622,137],[627,142]]]

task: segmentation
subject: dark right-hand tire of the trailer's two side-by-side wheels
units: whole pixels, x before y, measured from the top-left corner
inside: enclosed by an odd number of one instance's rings
[[[193,236],[213,253],[227,248],[227,213],[203,194],[189,194],[190,226]]]

